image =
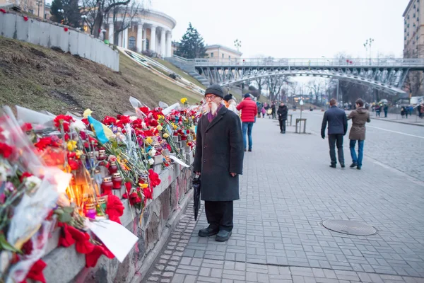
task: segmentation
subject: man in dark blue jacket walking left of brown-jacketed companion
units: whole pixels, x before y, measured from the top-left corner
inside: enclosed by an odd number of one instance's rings
[[[324,112],[324,118],[322,119],[321,137],[323,139],[325,139],[325,128],[327,123],[329,124],[330,167],[336,168],[337,146],[338,162],[340,163],[341,168],[344,168],[343,136],[348,131],[348,119],[344,110],[337,107],[337,100],[334,98],[330,100],[330,109]]]

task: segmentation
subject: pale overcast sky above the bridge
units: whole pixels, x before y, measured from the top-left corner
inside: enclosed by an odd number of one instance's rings
[[[177,21],[181,40],[189,22],[206,44],[234,47],[242,57],[317,58],[345,52],[365,57],[363,43],[377,52],[402,56],[408,0],[150,0],[151,8]]]

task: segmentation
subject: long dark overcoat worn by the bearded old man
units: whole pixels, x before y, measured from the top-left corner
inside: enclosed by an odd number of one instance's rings
[[[227,108],[197,124],[194,172],[201,172],[201,200],[225,202],[240,199],[239,176],[243,173],[243,136],[240,118]],[[232,177],[230,173],[237,173]]]

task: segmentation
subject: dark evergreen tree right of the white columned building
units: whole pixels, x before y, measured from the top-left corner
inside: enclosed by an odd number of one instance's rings
[[[179,48],[175,54],[187,59],[206,57],[204,39],[196,28],[193,28],[192,23],[189,23],[189,28],[182,36]]]

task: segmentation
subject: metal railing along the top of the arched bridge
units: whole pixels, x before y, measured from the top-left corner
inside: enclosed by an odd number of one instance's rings
[[[189,59],[196,66],[278,66],[278,67],[414,67],[424,66],[424,59],[369,58],[369,59],[298,59],[298,58],[200,58]]]

